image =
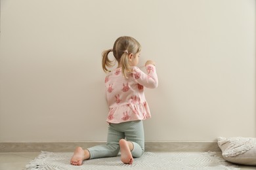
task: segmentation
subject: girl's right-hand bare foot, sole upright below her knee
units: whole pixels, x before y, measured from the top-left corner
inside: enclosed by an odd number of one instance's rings
[[[125,139],[121,139],[119,145],[121,150],[121,161],[131,165],[133,163],[133,156],[131,155],[132,148],[129,147],[129,142],[125,141]]]

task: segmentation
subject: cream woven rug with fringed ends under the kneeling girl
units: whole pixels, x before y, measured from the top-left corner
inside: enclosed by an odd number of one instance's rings
[[[215,152],[145,152],[132,165],[121,162],[120,156],[85,160],[80,166],[70,165],[72,152],[41,152],[26,165],[26,169],[83,170],[83,169],[239,169],[217,156]]]

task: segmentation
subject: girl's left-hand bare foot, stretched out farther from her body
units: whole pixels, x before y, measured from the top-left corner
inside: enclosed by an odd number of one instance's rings
[[[70,160],[70,163],[72,165],[82,165],[83,160],[87,160],[89,158],[90,158],[90,155],[88,150],[83,150],[83,148],[77,147]]]

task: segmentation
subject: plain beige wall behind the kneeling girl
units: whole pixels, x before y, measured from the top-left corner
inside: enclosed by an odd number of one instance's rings
[[[2,0],[0,142],[105,141],[101,52],[157,63],[146,141],[256,137],[255,1]]]

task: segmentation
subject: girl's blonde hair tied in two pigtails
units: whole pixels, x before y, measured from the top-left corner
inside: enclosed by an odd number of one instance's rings
[[[133,37],[119,37],[113,46],[113,49],[102,52],[102,69],[104,72],[109,72],[108,67],[113,67],[118,62],[122,68],[122,74],[127,78],[127,73],[131,73],[131,65],[129,64],[129,54],[137,54],[140,52],[140,43]],[[113,52],[116,61],[110,60],[108,54]]]

